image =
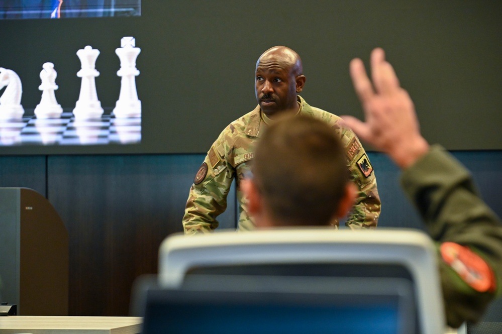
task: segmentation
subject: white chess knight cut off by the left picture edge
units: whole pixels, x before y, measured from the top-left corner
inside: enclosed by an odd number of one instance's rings
[[[0,119],[19,119],[25,109],[21,105],[23,86],[19,76],[13,70],[0,67],[0,89],[5,88],[0,96]]]

